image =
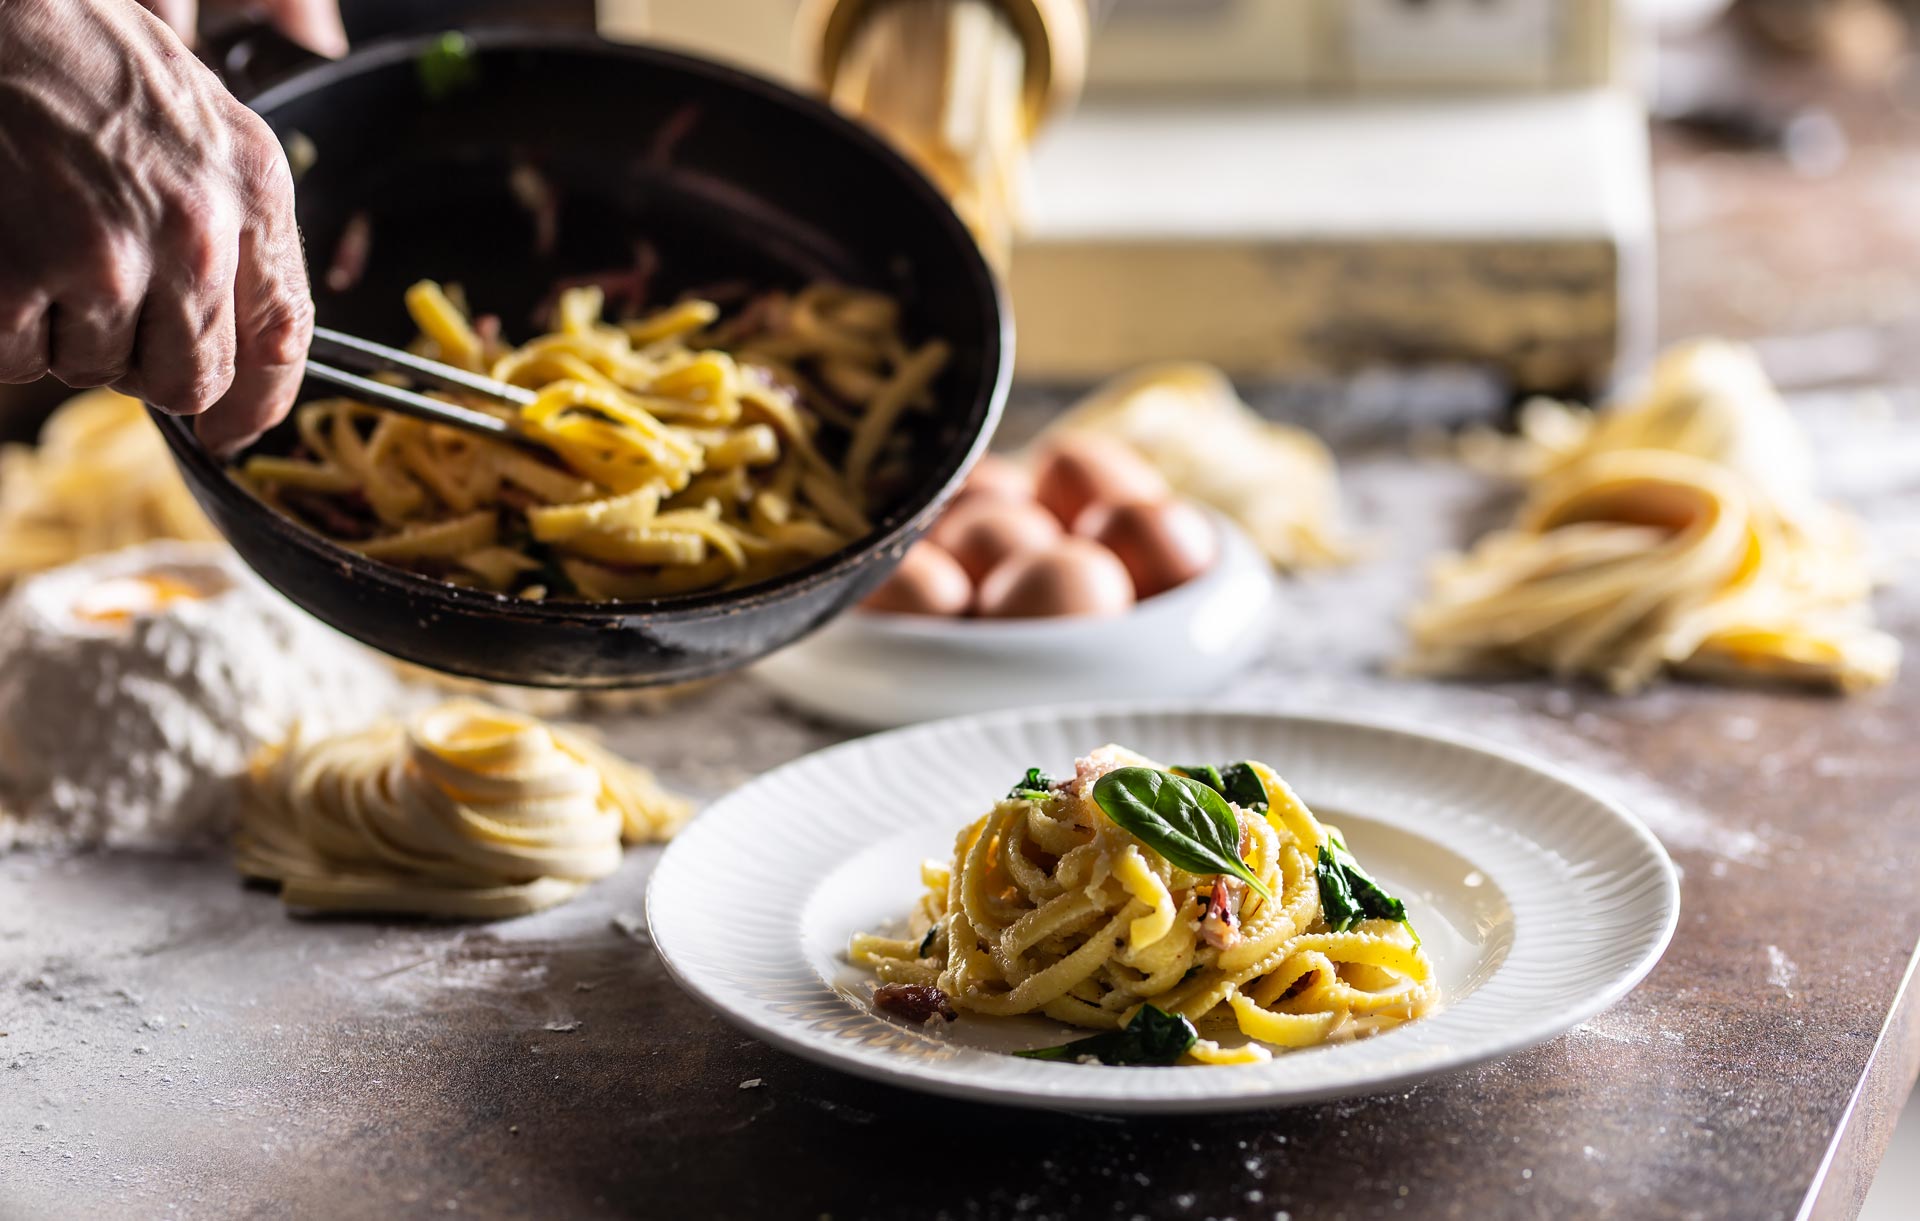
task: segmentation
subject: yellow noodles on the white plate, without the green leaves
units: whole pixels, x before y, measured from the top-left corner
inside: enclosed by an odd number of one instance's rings
[[[1119,766],[1158,768],[1102,747],[1044,799],[1000,801],[960,831],[952,860],[922,868],[910,935],[856,935],[851,960],[885,983],[937,987],[962,1014],[1116,1029],[1152,1004],[1250,1041],[1202,1039],[1187,1052],[1200,1064],[1371,1035],[1432,1006],[1432,966],[1405,923],[1329,927],[1315,862],[1331,827],[1269,768],[1250,764],[1265,810],[1235,814],[1271,900],[1179,870],[1114,824],[1091,791]],[[1208,918],[1217,887],[1229,887],[1231,931]]]

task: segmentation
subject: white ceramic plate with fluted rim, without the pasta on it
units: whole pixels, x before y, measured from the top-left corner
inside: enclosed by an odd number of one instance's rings
[[[1004,1052],[1073,1031],[977,1016],[922,1031],[872,1012],[847,937],[899,922],[918,862],[947,856],[1025,768],[1069,772],[1108,741],[1160,760],[1273,764],[1407,900],[1440,977],[1438,1012],[1233,1067],[1016,1060]],[[1544,764],[1371,722],[1208,710],[1029,708],[820,751],[714,802],[647,889],[674,975],[776,1046],[910,1089],[1094,1112],[1286,1106],[1507,1056],[1626,994],[1678,910],[1659,841]]]

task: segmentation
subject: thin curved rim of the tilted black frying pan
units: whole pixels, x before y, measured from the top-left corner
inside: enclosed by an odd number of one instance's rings
[[[248,106],[267,115],[276,106],[311,96],[313,92],[328,88],[338,81],[378,71],[396,61],[411,61],[442,36],[444,35],[434,33],[378,38],[363,48],[355,48],[342,60],[324,60],[296,71],[292,77],[261,90],[248,102]],[[545,27],[492,25],[467,31],[467,38],[480,54],[490,50],[582,52],[589,56],[609,56],[632,60],[636,63],[651,63],[693,77],[707,77],[726,88],[756,94],[774,106],[799,109],[816,125],[837,132],[843,140],[862,146],[870,157],[876,157],[893,173],[893,177],[900,179],[908,192],[916,192],[925,204],[931,204],[931,213],[939,219],[945,236],[958,250],[966,271],[975,280],[975,292],[970,292],[968,296],[975,307],[981,301],[991,303],[991,317],[981,319],[981,365],[993,365],[995,372],[991,380],[981,378],[979,384],[972,388],[966,401],[966,411],[972,415],[973,407],[981,399],[981,394],[985,394],[987,401],[979,430],[962,451],[947,451],[941,455],[933,472],[939,474],[939,480],[929,482],[924,490],[912,493],[908,497],[908,507],[899,513],[893,526],[885,532],[868,534],[810,564],[772,576],[764,582],[756,582],[745,589],[632,601],[530,601],[511,593],[451,586],[409,568],[369,559],[328,539],[317,530],[309,530],[286,515],[276,513],[271,505],[234,480],[223,461],[215,459],[204,445],[200,445],[192,434],[188,417],[169,415],[148,405],[148,413],[159,422],[159,428],[167,438],[167,447],[173,449],[175,457],[190,468],[190,474],[200,490],[227,501],[230,507],[236,507],[238,513],[250,513],[263,518],[267,530],[273,532],[275,538],[323,563],[344,568],[349,580],[369,580],[380,586],[390,586],[401,593],[413,593],[428,601],[445,603],[449,609],[482,616],[605,628],[618,628],[628,622],[724,618],[758,607],[783,603],[851,578],[852,570],[866,564],[870,557],[900,545],[908,536],[916,536],[916,528],[922,520],[929,518],[939,505],[952,495],[964,474],[973,467],[979,455],[985,453],[987,443],[1000,422],[1014,378],[1014,317],[1006,299],[1006,286],[996,275],[993,275],[985,255],[979,251],[979,244],[973,240],[973,234],[968,232],[966,223],[952,211],[947,198],[939,194],[939,190],[925,179],[925,175],[920,173],[918,167],[912,165],[912,161],[900,156],[879,134],[839,113],[820,98],[810,98],[799,90],[787,88],[785,84],[728,63],[716,63],[712,60],[703,60],[699,56],[660,46],[612,42],[593,33],[555,31]],[[981,284],[985,284],[985,294],[977,292]]]

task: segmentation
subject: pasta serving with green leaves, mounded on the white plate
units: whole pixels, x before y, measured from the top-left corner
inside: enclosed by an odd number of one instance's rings
[[[1108,745],[1068,779],[1029,768],[922,877],[908,935],[858,933],[849,956],[910,1021],[1100,1031],[1018,1056],[1248,1064],[1436,1000],[1405,904],[1263,762],[1165,768]]]

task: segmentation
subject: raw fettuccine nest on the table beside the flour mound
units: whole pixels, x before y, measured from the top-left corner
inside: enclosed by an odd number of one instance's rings
[[[572,898],[687,816],[580,735],[455,701],[255,762],[236,864],[292,908],[497,918]]]

